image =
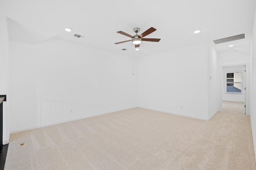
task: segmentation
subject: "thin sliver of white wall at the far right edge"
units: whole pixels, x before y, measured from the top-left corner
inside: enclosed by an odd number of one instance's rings
[[[252,30],[252,56],[250,67],[250,117],[252,124],[254,152],[256,153],[256,12],[254,15],[254,26]]]

